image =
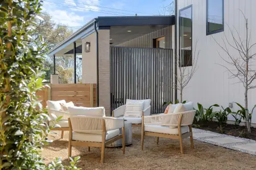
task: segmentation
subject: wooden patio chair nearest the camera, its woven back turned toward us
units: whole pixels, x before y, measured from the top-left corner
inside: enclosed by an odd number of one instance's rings
[[[105,146],[122,138],[122,150],[125,154],[125,126],[123,119],[99,116],[71,116],[69,119],[68,158],[72,146],[100,147],[101,163],[104,163]],[[119,129],[122,128],[122,134]]]

